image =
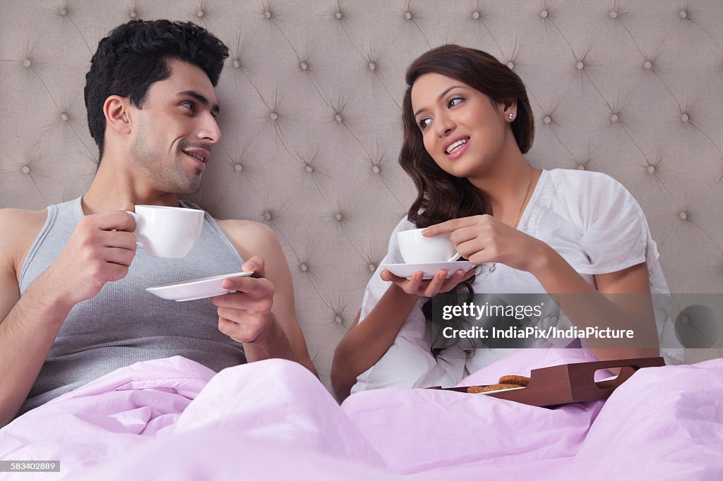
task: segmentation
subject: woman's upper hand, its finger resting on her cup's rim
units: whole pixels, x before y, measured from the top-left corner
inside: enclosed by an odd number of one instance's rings
[[[500,262],[513,269],[531,272],[544,260],[549,246],[495,219],[491,215],[475,215],[430,225],[425,237],[450,234],[457,252],[472,264]]]

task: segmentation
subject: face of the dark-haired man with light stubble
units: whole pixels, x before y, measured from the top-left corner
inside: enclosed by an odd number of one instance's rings
[[[142,108],[131,107],[132,168],[158,191],[194,194],[210,146],[221,141],[218,100],[202,69],[171,60],[171,77],[151,84]]]

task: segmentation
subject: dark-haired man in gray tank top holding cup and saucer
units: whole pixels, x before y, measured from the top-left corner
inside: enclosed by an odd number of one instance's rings
[[[135,20],[100,40],[86,76],[98,173],[80,199],[0,210],[0,426],[116,368],[183,355],[219,371],[267,358],[314,372],[291,274],[265,225],[208,214],[184,259],[136,249],[134,204],[189,207],[221,141],[226,45],[190,22]],[[173,303],[145,287],[241,269],[235,293]],[[161,282],[158,282],[161,281]],[[26,400],[27,398],[27,400]]]

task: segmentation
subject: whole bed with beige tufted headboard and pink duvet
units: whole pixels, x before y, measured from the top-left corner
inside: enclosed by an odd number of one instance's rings
[[[10,0],[0,12],[1,208],[41,209],[87,188],[98,152],[82,87],[112,27],[192,20],[228,43],[224,139],[191,200],[275,231],[320,373],[281,360],[215,376],[183,358],[122,368],[0,430],[1,460],[61,462],[22,479],[723,478],[712,344],[688,349],[688,365],[638,371],[606,402],[554,409],[424,389],[340,405],[329,376],[414,199],[395,165],[403,71],[442,43],[489,51],[523,78],[535,167],[608,173],[636,196],[674,293],[723,293],[717,0]],[[590,359],[526,351],[462,383]]]

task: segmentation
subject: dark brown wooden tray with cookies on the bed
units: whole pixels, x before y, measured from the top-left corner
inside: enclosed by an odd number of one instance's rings
[[[612,391],[633,376],[640,368],[653,368],[665,365],[663,358],[637,358],[593,363],[577,363],[555,365],[550,368],[533,369],[529,384],[522,389],[502,389],[490,391],[481,396],[492,396],[498,399],[530,404],[531,406],[549,407],[572,402],[596,401],[607,399]],[[607,368],[622,368],[620,374],[607,381],[595,382],[595,371]],[[514,373],[510,373],[514,374]],[[467,387],[442,388],[435,386],[429,389],[442,391],[467,392]]]

